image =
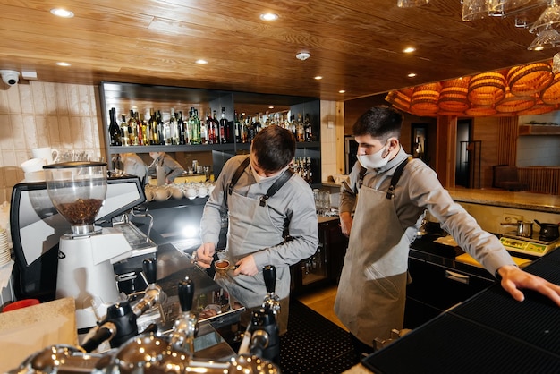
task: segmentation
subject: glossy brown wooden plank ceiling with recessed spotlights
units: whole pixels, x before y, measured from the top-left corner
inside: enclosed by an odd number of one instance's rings
[[[57,18],[55,7],[75,16]],[[280,18],[259,20],[268,11]],[[348,100],[557,52],[527,50],[536,35],[515,28],[514,17],[464,22],[461,13],[460,0],[418,8],[396,0],[0,0],[0,69],[34,71],[38,81]],[[295,57],[303,50],[306,61]]]

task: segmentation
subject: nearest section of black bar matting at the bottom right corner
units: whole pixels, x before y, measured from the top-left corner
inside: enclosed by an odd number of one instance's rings
[[[432,319],[362,364],[376,374],[560,372],[557,355],[450,314]]]

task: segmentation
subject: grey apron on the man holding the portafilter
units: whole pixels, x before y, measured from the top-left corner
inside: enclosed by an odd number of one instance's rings
[[[260,200],[242,196],[235,191],[228,197],[227,247],[225,252],[218,253],[218,257],[229,259],[234,264],[253,252],[284,242],[284,227],[276,226],[269,216],[268,205],[261,207],[259,203]],[[276,294],[280,299],[287,300],[290,293],[290,268],[287,265],[270,265],[276,266]],[[243,306],[249,309],[260,307],[267,295],[262,269],[256,276],[234,276],[233,270],[229,270],[227,275],[216,276],[216,283]],[[288,319],[285,304],[282,304],[278,319],[278,324],[284,328]]]

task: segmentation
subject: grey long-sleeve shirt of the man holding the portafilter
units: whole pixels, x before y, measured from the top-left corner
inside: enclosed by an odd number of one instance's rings
[[[221,228],[220,212],[227,211],[228,185],[245,157],[247,156],[236,156],[228,160],[217,178],[216,188],[208,198],[200,222],[202,242],[213,242],[217,245]],[[233,191],[258,200],[275,181],[276,178],[270,178],[257,183],[248,166],[233,187]],[[268,199],[267,208],[270,218],[276,225],[283,226],[285,219],[288,219],[291,240],[252,253],[257,268],[267,264],[293,265],[301,259],[309,258],[317,251],[318,223],[313,192],[309,184],[300,176],[293,175],[274,196]],[[230,222],[229,225],[235,225],[235,222]]]

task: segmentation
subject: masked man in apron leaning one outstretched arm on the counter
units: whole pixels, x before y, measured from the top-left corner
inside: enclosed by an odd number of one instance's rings
[[[502,278],[515,300],[523,300],[526,288],[560,306],[560,286],[517,268],[496,236],[454,202],[437,174],[420,159],[409,159],[399,140],[402,123],[395,109],[376,106],[352,127],[359,162],[341,188],[341,228],[350,240],[335,312],[358,353],[371,352],[376,337],[387,339],[391,329],[403,328],[409,245],[426,209],[464,251]]]

